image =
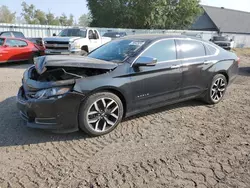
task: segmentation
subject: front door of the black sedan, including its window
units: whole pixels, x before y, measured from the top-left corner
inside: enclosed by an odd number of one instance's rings
[[[153,57],[157,63],[153,67],[130,68],[134,110],[178,100],[182,72],[175,40],[157,41],[139,57]]]

